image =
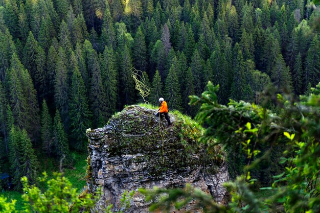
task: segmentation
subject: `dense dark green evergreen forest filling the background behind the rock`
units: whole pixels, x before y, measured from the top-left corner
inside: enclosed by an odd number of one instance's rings
[[[87,128],[142,101],[131,67],[150,103],[191,116],[208,81],[222,104],[271,85],[298,99],[320,81],[319,17],[310,0],[1,0],[0,173],[19,190],[37,156],[85,150]]]

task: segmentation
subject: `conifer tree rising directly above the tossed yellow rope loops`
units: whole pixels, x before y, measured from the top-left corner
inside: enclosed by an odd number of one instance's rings
[[[145,71],[147,68],[147,48],[141,27],[135,33],[132,54],[134,56],[134,67]]]

